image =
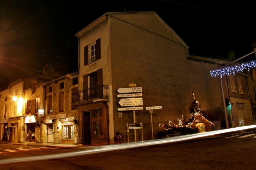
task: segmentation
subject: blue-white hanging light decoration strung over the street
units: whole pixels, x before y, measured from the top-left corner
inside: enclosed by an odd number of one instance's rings
[[[233,74],[235,75],[236,72],[241,71],[243,72],[243,70],[248,69],[248,71],[250,71],[249,69],[251,68],[256,68],[256,60],[254,61],[250,61],[247,63],[242,63],[242,64],[238,64],[238,65],[234,65],[234,66],[227,66],[225,68],[221,68],[221,69],[215,69],[215,70],[211,70],[211,77],[216,77],[216,76],[224,76],[224,75],[230,75]]]

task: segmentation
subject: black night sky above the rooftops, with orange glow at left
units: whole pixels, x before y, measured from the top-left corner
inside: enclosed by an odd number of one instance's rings
[[[187,43],[190,55],[227,58],[234,50],[240,58],[256,43],[250,2],[0,0],[0,90],[42,73],[45,64],[63,75],[77,71],[74,35],[104,13],[124,10],[155,11]]]

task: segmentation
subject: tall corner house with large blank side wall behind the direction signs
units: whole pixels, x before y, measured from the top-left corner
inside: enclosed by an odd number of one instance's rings
[[[155,12],[106,13],[75,36],[79,83],[72,97],[79,114],[79,144],[114,142],[117,131],[126,141],[128,136],[129,141],[156,138],[159,124],[190,119],[191,92],[207,119],[225,127],[220,79],[210,75],[220,65],[191,59],[188,45]],[[130,86],[141,94],[119,90]],[[140,99],[130,97],[136,94]],[[153,127],[146,109],[150,106],[162,106],[152,113]],[[143,133],[130,129],[131,123],[141,123]]]

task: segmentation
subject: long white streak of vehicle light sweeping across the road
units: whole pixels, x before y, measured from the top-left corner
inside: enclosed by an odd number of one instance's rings
[[[57,159],[57,158],[64,158],[64,157],[71,157],[71,156],[102,153],[102,152],[114,151],[114,150],[125,150],[125,149],[132,149],[132,148],[148,147],[148,146],[161,145],[161,144],[167,144],[167,143],[173,143],[173,142],[179,142],[179,141],[186,141],[189,139],[196,139],[199,137],[218,135],[218,134],[222,134],[222,133],[235,132],[235,131],[251,129],[251,128],[256,128],[256,125],[236,127],[236,128],[223,129],[223,130],[215,130],[215,131],[205,132],[205,133],[182,135],[182,136],[177,136],[177,137],[169,137],[169,138],[158,139],[158,140],[154,140],[154,141],[122,143],[121,145],[109,145],[109,146],[104,146],[104,148],[85,150],[85,151],[76,151],[76,152],[72,152],[72,153],[10,158],[10,159],[5,159],[5,160],[0,160],[0,164],[28,162],[28,161],[37,161],[37,160],[41,161],[41,160],[48,160],[48,159]]]

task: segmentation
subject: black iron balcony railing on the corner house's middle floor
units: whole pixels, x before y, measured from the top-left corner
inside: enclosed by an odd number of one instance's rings
[[[108,98],[108,86],[96,85],[90,88],[86,88],[72,93],[72,103],[78,103],[81,101],[87,101],[92,99]]]

